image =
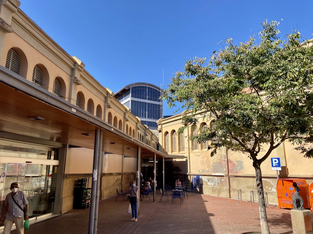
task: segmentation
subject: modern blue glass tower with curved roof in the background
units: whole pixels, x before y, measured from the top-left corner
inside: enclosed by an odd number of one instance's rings
[[[156,130],[156,121],[163,116],[162,89],[149,83],[133,83],[126,85],[114,96],[123,105],[126,105],[131,113],[141,119],[149,129]]]

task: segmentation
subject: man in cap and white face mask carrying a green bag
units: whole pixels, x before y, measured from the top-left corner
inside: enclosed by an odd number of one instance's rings
[[[18,183],[12,183],[10,189],[11,193],[5,198],[2,216],[0,218],[0,222],[4,221],[3,234],[9,234],[11,232],[13,223],[15,223],[17,233],[23,234],[24,220],[28,219],[28,201],[25,194],[18,190]],[[25,208],[25,213],[13,199],[22,209]]]

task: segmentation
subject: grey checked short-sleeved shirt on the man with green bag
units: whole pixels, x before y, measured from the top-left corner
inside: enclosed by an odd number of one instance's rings
[[[13,193],[9,193],[4,201],[4,205],[8,206],[8,211],[5,218],[6,220],[14,220],[14,217],[24,217],[24,212],[15,204],[11,194],[13,195]],[[22,209],[24,209],[25,205],[28,204],[27,198],[22,191],[18,190],[17,193],[15,193],[15,196],[13,195],[13,197],[16,203],[18,203]]]

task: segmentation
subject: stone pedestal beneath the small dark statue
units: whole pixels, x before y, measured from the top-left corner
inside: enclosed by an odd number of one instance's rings
[[[290,214],[293,233],[313,234],[309,210],[292,209]]]

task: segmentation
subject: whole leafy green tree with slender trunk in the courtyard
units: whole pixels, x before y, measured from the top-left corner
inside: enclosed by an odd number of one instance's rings
[[[208,64],[206,58],[187,61],[164,92],[169,107],[181,104],[190,111],[184,124],[197,124],[200,110],[205,110],[204,119],[215,120],[212,129],[189,139],[214,139],[208,147],[211,156],[227,147],[252,160],[263,234],[269,234],[269,226],[261,163],[286,140],[312,156],[313,48],[297,30],[281,39],[278,26],[279,22],[262,22],[258,43],[254,36],[239,45],[226,39]]]

